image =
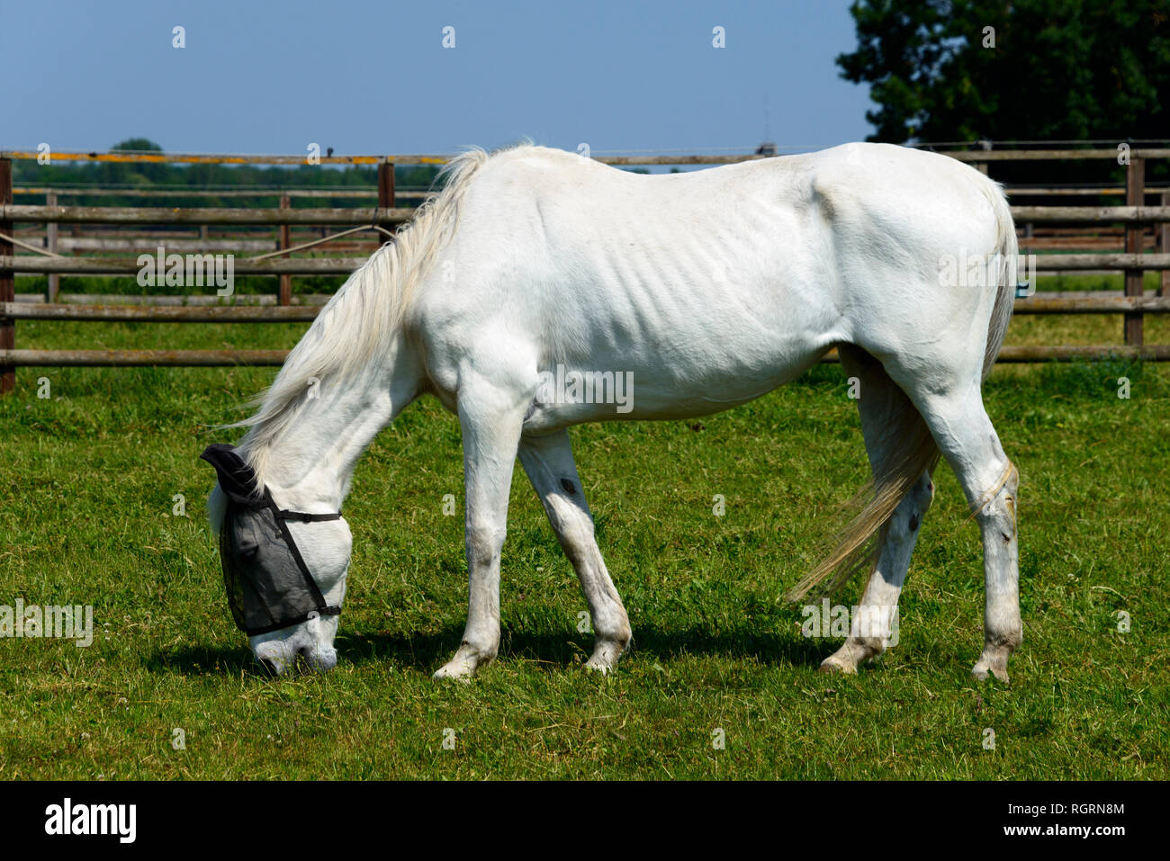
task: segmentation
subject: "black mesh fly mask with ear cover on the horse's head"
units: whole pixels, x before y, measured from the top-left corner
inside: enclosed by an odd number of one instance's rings
[[[236,627],[254,636],[339,614],[340,607],[325,604],[288,521],[339,521],[340,512],[310,515],[281,509],[267,487],[257,487],[256,473],[232,446],[208,446],[199,456],[215,467],[228,498],[220,528],[220,562]]]

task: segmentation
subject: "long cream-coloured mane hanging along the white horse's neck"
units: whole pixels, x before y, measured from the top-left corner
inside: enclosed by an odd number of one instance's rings
[[[249,401],[249,407],[259,407],[256,413],[222,426],[249,428],[240,442],[240,454],[256,470],[261,483],[271,446],[294,423],[309,398],[310,385],[360,373],[390,343],[410,310],[415,288],[454,235],[473,174],[494,154],[470,147],[448,161],[436,178],[436,182],[445,180],[442,190],[428,197],[411,223],[333,294],[271,386]]]

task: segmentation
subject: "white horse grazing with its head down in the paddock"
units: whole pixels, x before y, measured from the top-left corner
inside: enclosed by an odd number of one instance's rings
[[[973,673],[1006,680],[1023,639],[1017,473],[983,407],[1014,285],[942,283],[964,254],[1013,261],[999,186],[951,158],[881,144],[679,174],[633,174],[523,145],[455,158],[446,186],[338,290],[289,354],[238,453],[278,507],[340,509],[355,463],[421,394],[463,434],[469,611],[436,677],[466,677],[500,643],[500,552],[518,455],[589,601],[610,670],[631,627],[593,537],[567,428],[683,419],[749,401],[837,347],[860,381],[873,469],[866,504],[791,598],[868,567],[852,635],[821,668],[855,673],[885,650],[922,518],[945,456],[983,533],[984,649]],[[998,266],[998,263],[996,264]],[[951,267],[954,271],[954,267]],[[632,398],[549,397],[556,380]],[[592,376],[591,376],[592,374]],[[611,399],[612,401],[612,399]],[[209,503],[223,525],[219,487]],[[324,601],[340,607],[344,519],[288,529]],[[248,559],[232,559],[247,565]],[[277,673],[336,662],[337,615],[250,638]]]

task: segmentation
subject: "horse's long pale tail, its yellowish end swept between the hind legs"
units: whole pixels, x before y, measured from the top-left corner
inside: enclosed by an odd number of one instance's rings
[[[983,379],[986,379],[1003,346],[1016,304],[1014,278],[1010,276],[1016,271],[1019,248],[1016,223],[1003,187],[980,173],[976,175],[996,219],[996,248],[992,254],[999,255],[1000,262],[983,358]],[[800,600],[817,587],[823,587],[824,594],[832,594],[855,574],[862,571],[872,573],[894,510],[922,474],[932,473],[938,463],[938,446],[921,413],[885,368],[876,365],[872,372],[885,377],[889,391],[899,400],[886,432],[889,445],[881,461],[873,463],[873,480],[853,500],[853,505],[860,505],[860,511],[840,532],[837,545],[828,555],[789,591],[785,598],[790,601]]]

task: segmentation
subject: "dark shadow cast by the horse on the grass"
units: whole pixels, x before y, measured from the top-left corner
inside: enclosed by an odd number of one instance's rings
[[[337,639],[340,661],[364,664],[371,661],[394,662],[420,673],[433,673],[455,654],[462,626],[448,626],[431,634],[342,634]],[[709,657],[753,657],[766,664],[790,664],[815,669],[840,643],[794,634],[760,631],[729,631],[710,634],[698,629],[663,631],[636,627],[634,643],[627,654],[656,660],[687,655]],[[573,631],[528,633],[504,631],[500,659],[519,659],[548,664],[550,671],[584,662],[593,647],[592,635]],[[245,675],[268,677],[246,647],[185,647],[156,653],[146,662],[153,673],[178,673],[190,676]]]

